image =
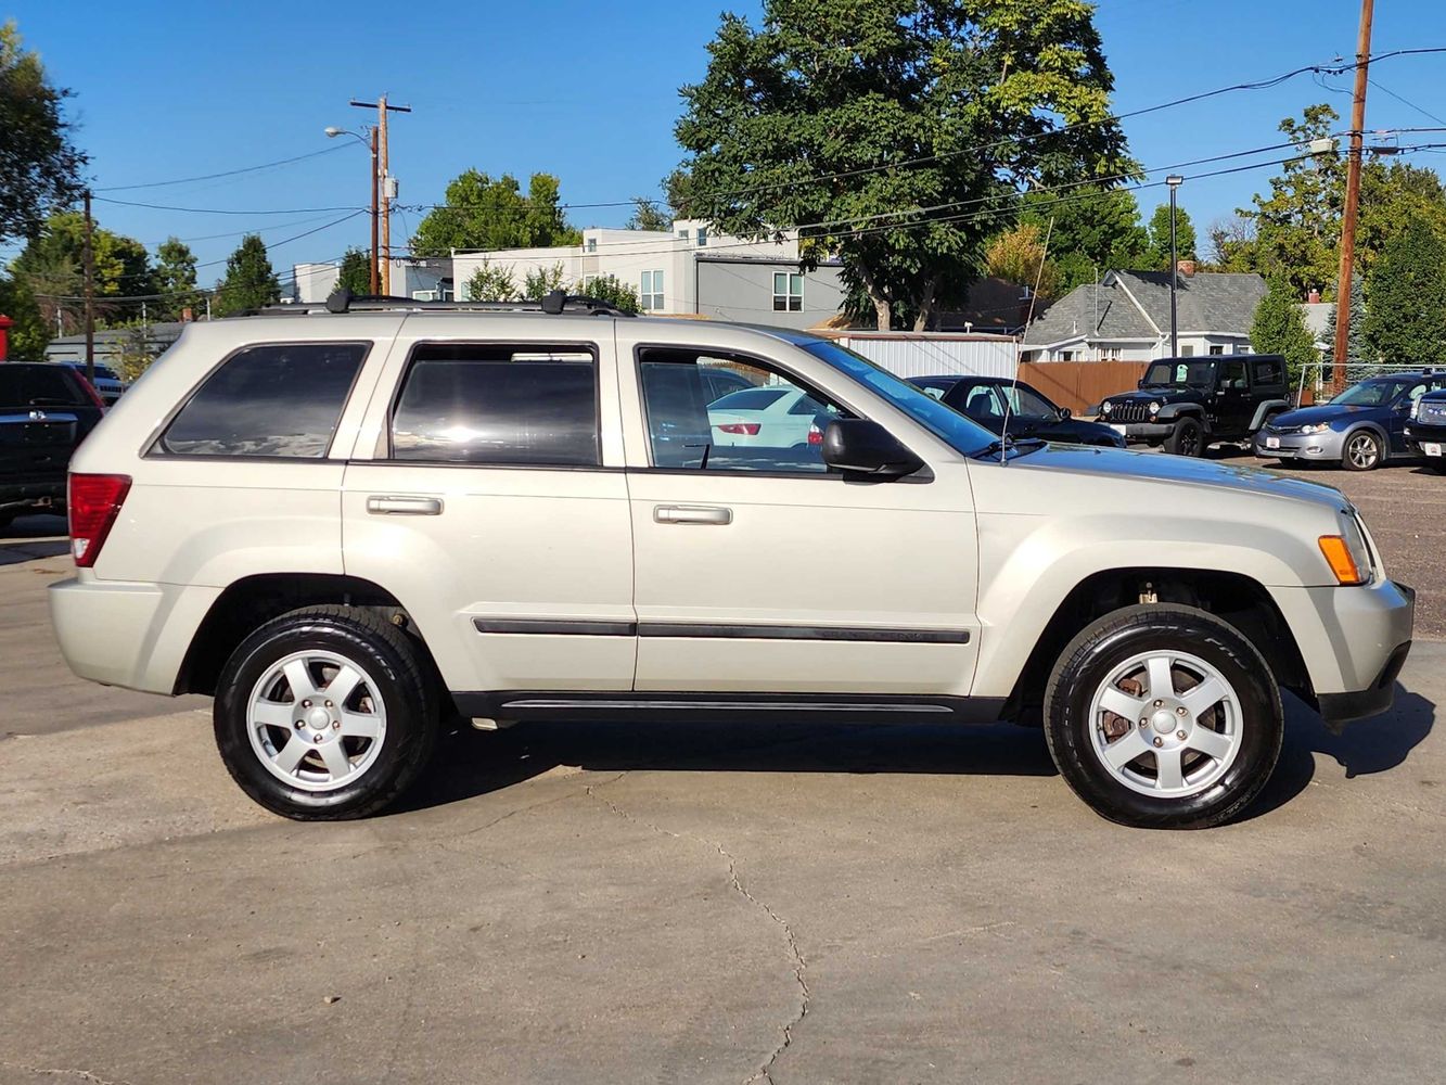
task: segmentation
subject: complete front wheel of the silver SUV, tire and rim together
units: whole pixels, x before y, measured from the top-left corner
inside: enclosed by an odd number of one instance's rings
[[[1235,817],[1270,780],[1284,733],[1255,645],[1186,606],[1131,606],[1086,628],[1044,706],[1060,775],[1096,813],[1137,827]]]

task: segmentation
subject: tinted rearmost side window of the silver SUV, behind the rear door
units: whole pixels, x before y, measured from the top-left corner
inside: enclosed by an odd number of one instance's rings
[[[364,343],[288,343],[231,354],[161,435],[181,456],[327,454]]]

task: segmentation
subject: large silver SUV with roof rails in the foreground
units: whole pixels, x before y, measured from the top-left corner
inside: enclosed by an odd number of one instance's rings
[[[298,819],[395,800],[444,713],[826,712],[1043,720],[1103,816],[1205,826],[1280,687],[1372,715],[1411,637],[1327,486],[1002,441],[827,339],[561,295],[191,324],[71,470],[71,667],[213,694]]]

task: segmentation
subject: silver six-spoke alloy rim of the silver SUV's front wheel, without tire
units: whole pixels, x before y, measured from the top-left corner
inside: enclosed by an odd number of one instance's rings
[[[1241,751],[1244,718],[1231,683],[1197,655],[1141,652],[1090,700],[1099,762],[1132,791],[1186,799],[1215,784]]]

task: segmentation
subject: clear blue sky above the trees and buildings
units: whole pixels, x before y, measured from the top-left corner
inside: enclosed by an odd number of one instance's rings
[[[351,97],[385,91],[414,109],[392,123],[392,172],[401,179],[403,204],[440,201],[447,181],[467,166],[522,178],[554,172],[562,198],[574,204],[656,194],[659,178],[681,156],[672,140],[677,88],[701,75],[706,45],[724,7],[753,16],[758,3],[482,0],[408,9],[372,0],[344,6],[12,0],[6,10],[52,78],[75,91],[71,113],[93,158],[98,197],[266,211],[191,214],[95,204],[103,226],[152,247],[169,234],[188,239],[205,265],[200,279],[208,284],[247,229],[260,230],[275,246],[278,271],[366,243],[364,214],[327,226],[344,211],[320,210],[363,207],[367,200],[363,148],[322,136],[327,124],[367,123],[369,114],[347,107]],[[1356,0],[1102,0],[1098,25],[1116,77],[1116,111],[1349,58],[1358,12]],[[1446,46],[1446,4],[1377,6],[1374,54],[1421,46]],[[1420,110],[1446,117],[1446,54],[1387,59],[1372,68],[1372,78],[1369,129],[1437,124]],[[1126,120],[1125,132],[1145,166],[1265,146],[1278,142],[1280,119],[1306,104],[1330,101],[1343,119],[1349,116],[1349,75],[1326,82],[1301,75],[1271,90]],[[1446,133],[1403,137],[1426,140],[1446,143]],[[328,149],[289,166],[218,181],[110,188]],[[1421,153],[1413,161],[1446,159]],[[1219,166],[1196,171],[1212,168]],[[1181,172],[1189,176],[1192,168]],[[1180,200],[1202,240],[1212,218],[1246,204],[1271,172],[1187,181]],[[1139,194],[1147,217],[1161,194]],[[612,226],[628,210],[570,216],[578,226]],[[395,242],[409,236],[416,217],[393,217]],[[327,229],[282,244],[317,227]]]

